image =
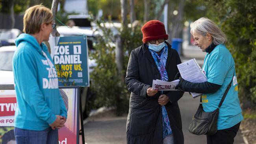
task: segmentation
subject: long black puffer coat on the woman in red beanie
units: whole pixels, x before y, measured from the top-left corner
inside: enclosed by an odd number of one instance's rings
[[[167,43],[167,42],[165,42]],[[180,57],[176,50],[168,44],[168,57],[165,69],[168,81],[173,81],[180,64]],[[126,86],[131,91],[129,114],[126,124],[127,144],[163,144],[163,126],[161,105],[156,95],[147,96],[148,87],[152,87],[152,80],[160,79],[160,72],[148,50],[146,44],[132,51],[126,72]],[[174,135],[175,144],[184,144],[182,122],[178,100],[182,91],[164,91],[171,102],[165,107]]]

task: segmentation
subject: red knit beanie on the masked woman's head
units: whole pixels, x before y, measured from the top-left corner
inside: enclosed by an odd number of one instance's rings
[[[150,20],[141,28],[144,43],[154,39],[168,39],[165,26],[159,20]]]

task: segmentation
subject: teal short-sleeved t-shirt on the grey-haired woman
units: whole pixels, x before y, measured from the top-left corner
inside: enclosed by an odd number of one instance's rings
[[[233,79],[231,88],[219,110],[217,129],[227,129],[241,122],[243,116],[238,98],[235,62],[226,46],[219,44],[210,54],[206,54],[202,70],[208,82],[221,85],[217,92],[202,94],[202,106],[206,112],[217,109],[228,84]]]

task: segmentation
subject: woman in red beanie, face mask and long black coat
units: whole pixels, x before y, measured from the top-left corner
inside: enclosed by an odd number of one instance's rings
[[[183,91],[152,89],[152,80],[173,81],[180,64],[159,20],[142,28],[143,44],[132,50],[126,86],[131,92],[126,124],[127,144],[184,144],[178,100]]]

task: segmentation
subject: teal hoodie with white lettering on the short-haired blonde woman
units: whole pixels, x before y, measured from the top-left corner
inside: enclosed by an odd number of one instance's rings
[[[67,118],[58,89],[58,77],[45,44],[23,33],[16,39],[13,75],[17,94],[15,127],[41,131],[56,120]]]

